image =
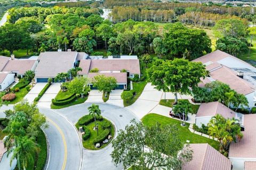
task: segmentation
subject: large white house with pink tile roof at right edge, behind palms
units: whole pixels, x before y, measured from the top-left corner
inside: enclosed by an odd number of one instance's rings
[[[221,81],[228,84],[238,94],[245,95],[250,108],[256,106],[255,67],[221,50],[215,50],[193,61],[202,62],[206,65],[206,70],[210,72],[209,77],[201,79],[200,87],[204,87],[206,83],[212,81]]]

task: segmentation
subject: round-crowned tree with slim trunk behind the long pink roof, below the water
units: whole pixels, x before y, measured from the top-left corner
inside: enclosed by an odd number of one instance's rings
[[[100,24],[96,29],[96,33],[98,37],[101,37],[102,40],[105,41],[105,48],[107,52],[107,41],[113,36],[113,29],[111,28],[111,25]]]

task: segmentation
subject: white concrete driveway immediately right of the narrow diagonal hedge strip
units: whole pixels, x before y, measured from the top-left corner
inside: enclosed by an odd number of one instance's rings
[[[60,91],[60,83],[52,83],[46,90],[45,94],[38,101],[39,107],[51,108],[52,99],[54,99]]]

